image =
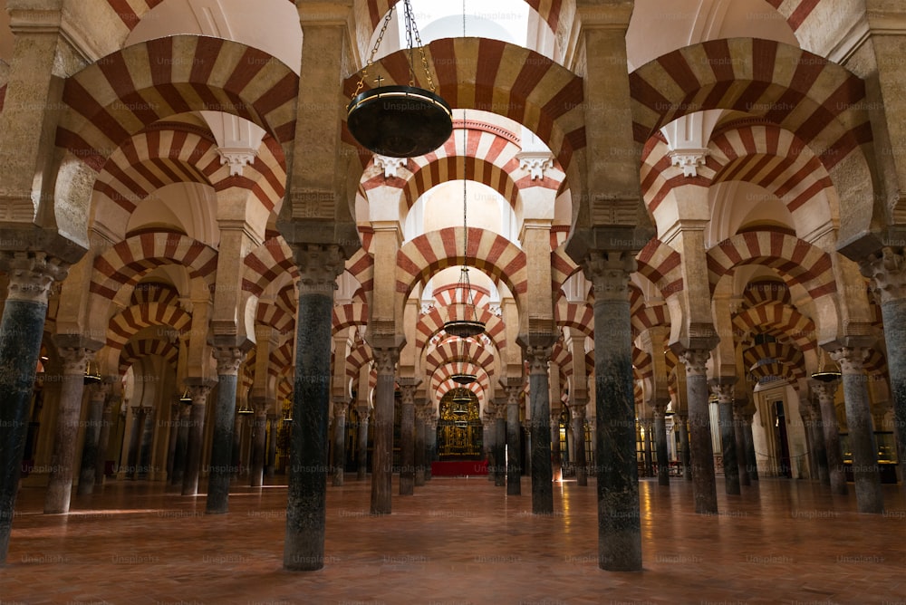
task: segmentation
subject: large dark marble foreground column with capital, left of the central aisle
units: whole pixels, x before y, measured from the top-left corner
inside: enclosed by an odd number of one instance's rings
[[[314,571],[324,566],[331,321],[344,262],[337,245],[293,245],[293,254],[299,268],[299,311],[284,569]]]

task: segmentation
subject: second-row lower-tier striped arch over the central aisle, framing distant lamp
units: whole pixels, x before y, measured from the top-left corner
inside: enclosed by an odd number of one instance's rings
[[[520,303],[528,290],[525,253],[503,235],[469,227],[468,249],[463,257],[463,227],[446,227],[419,235],[397,252],[397,296],[400,308],[412,288],[447,267],[467,264],[490,275]]]

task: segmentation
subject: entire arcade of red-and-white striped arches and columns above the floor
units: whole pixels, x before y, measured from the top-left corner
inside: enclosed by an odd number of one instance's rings
[[[413,0],[453,134],[385,158],[344,107],[396,0],[249,4],[0,0],[0,558],[20,492],[139,481],[283,486],[290,571],[349,485],[375,523],[448,474],[525,523],[597,485],[607,571],[640,483],[902,502],[906,7]]]

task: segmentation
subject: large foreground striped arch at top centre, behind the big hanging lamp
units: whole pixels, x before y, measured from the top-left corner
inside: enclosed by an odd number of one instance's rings
[[[425,51],[437,74],[437,92],[450,107],[515,120],[545,141],[567,171],[573,156],[585,148],[583,81],[573,72],[542,54],[487,38],[445,38],[429,43]],[[410,82],[408,53],[403,51],[370,69],[386,76],[383,85]],[[361,72],[344,82],[350,97],[360,79]],[[369,88],[371,82],[365,82],[363,90]],[[345,124],[342,138],[358,147]]]

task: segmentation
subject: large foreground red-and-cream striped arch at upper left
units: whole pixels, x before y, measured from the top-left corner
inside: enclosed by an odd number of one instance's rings
[[[175,35],[111,53],[69,78],[57,147],[101,170],[140,130],[188,111],[224,111],[286,143],[295,135],[298,76],[245,44]]]

